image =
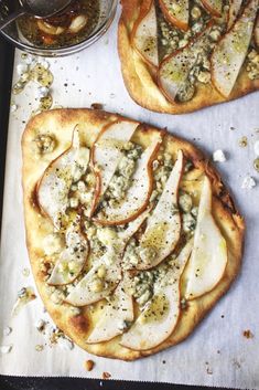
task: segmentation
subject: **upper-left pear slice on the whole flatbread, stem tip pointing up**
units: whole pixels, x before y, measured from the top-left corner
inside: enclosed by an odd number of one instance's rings
[[[39,204],[57,230],[62,226],[63,215],[68,207],[75,169],[80,169],[83,175],[88,162],[89,149],[80,145],[79,128],[76,127],[69,149],[51,162],[37,185]]]

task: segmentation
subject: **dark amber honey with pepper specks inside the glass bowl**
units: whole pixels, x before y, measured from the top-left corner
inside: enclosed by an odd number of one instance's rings
[[[99,1],[75,0],[66,10],[52,18],[21,17],[18,29],[24,39],[36,46],[65,48],[88,38],[97,27],[99,15]]]

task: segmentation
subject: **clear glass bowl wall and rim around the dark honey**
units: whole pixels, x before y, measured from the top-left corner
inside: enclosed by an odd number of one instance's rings
[[[11,3],[13,3],[11,1]],[[9,12],[9,0],[0,0],[0,20],[4,19],[4,14]],[[42,56],[63,56],[79,52],[96,42],[110,27],[118,4],[118,0],[99,0],[100,12],[99,20],[94,31],[86,36],[82,42],[62,46],[62,48],[43,48],[29,42],[19,31],[17,22],[9,24],[0,33],[11,42],[15,48],[21,49],[28,53]]]

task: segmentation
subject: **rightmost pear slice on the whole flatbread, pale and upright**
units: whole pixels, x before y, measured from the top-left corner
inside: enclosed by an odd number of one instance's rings
[[[186,299],[212,291],[222,280],[227,265],[227,244],[212,214],[212,185],[207,177],[201,193],[194,246],[186,266]]]

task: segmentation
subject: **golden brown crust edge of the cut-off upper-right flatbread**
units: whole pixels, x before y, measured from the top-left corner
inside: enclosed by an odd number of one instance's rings
[[[121,3],[122,15],[118,28],[118,50],[121,71],[130,96],[140,106],[159,113],[185,114],[218,103],[234,101],[259,89],[259,80],[250,80],[245,67],[242,67],[228,98],[222,96],[212,83],[206,85],[199,83],[197,93],[192,101],[186,103],[170,103],[160,91],[153,71],[150,70],[149,65],[130,44],[131,31],[139,14],[141,1],[134,1],[134,6],[130,4],[131,0],[122,0]]]

